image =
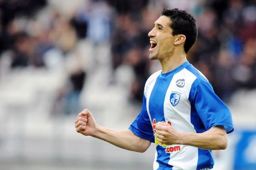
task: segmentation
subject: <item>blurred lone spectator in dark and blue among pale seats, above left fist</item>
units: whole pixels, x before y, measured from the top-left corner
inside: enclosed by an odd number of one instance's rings
[[[86,80],[83,62],[76,54],[68,55],[64,64],[66,81],[58,91],[52,106],[52,115],[70,115],[81,111],[80,96]]]

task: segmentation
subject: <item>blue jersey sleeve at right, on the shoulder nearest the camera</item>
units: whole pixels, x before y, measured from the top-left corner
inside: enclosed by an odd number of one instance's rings
[[[223,125],[227,133],[234,130],[230,110],[209,82],[200,82],[193,88],[192,101],[207,130],[217,125]]]

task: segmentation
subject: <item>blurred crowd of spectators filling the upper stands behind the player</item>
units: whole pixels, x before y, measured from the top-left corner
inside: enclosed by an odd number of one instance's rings
[[[184,9],[196,17],[198,40],[187,57],[218,96],[229,102],[237,89],[256,88],[255,0],[74,2],[73,8],[61,10],[65,1],[0,0],[0,71],[66,68],[67,83],[58,96],[67,103],[67,114],[76,110],[86,88],[87,66],[81,64],[81,56],[70,59],[69,55],[85,39],[94,47],[107,43],[111,48],[110,84],[115,83],[114,74],[121,65],[133,69],[135,77],[128,90],[131,98],[142,99],[145,81],[156,71],[155,62],[148,59],[148,32],[163,8]]]

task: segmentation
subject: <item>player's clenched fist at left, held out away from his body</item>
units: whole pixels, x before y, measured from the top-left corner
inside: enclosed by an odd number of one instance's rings
[[[85,136],[93,136],[96,131],[96,123],[92,113],[88,109],[84,109],[76,116],[76,131]]]

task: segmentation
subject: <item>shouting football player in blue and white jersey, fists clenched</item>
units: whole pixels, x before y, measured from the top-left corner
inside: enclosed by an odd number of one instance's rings
[[[164,9],[148,33],[149,58],[158,59],[162,70],[145,83],[137,119],[128,130],[112,130],[97,125],[85,109],[76,118],[76,131],[137,152],[154,142],[154,170],[211,169],[211,150],[227,147],[233,123],[208,80],[186,60],[197,32],[192,15]]]

